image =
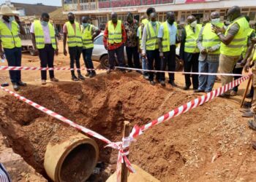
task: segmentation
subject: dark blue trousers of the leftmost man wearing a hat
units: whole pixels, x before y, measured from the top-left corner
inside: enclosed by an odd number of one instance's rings
[[[21,66],[21,47],[4,48],[4,54],[7,58],[8,66]],[[9,71],[9,74],[12,83],[20,82],[20,71]]]

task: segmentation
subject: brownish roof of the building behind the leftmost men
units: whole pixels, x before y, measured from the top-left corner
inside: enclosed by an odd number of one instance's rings
[[[12,4],[17,9],[25,9],[26,16],[41,15],[42,12],[50,13],[58,9],[58,7],[48,6],[44,4],[23,4],[23,3],[12,3]]]

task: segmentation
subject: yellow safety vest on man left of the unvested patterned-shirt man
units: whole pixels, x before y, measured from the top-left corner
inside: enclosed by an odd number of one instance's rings
[[[114,27],[112,20],[108,21],[108,43],[121,43],[121,20],[117,21],[116,28]]]

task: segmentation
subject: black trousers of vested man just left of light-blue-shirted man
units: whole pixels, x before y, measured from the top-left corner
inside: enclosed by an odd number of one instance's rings
[[[161,67],[161,60],[160,60],[160,55],[159,55],[159,50],[146,50],[146,55],[148,58],[148,69],[149,70],[160,70]],[[154,66],[153,66],[154,65]],[[149,81],[154,80],[154,72],[149,72]],[[160,73],[157,72],[156,74],[156,79],[160,80]]]

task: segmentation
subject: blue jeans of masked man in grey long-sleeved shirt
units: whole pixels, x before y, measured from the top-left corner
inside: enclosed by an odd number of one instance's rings
[[[219,68],[219,62],[210,62],[208,60],[199,61],[199,73],[216,74]],[[199,75],[198,90],[211,91],[214,87],[216,75]]]

